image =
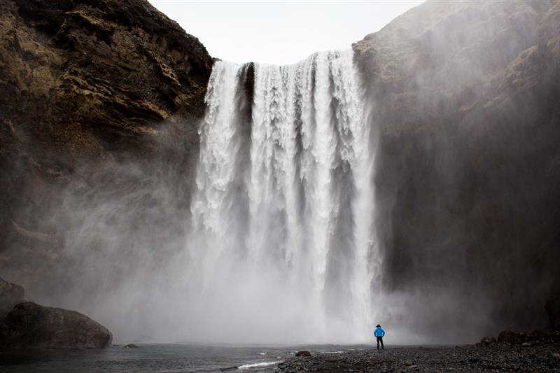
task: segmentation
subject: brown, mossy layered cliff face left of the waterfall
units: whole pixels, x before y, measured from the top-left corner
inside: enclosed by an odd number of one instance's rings
[[[52,292],[76,246],[107,246],[76,228],[102,200],[123,241],[181,230],[211,65],[145,0],[1,0],[0,271]]]

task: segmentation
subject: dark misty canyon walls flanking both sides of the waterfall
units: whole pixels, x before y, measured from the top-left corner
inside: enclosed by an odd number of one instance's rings
[[[559,30],[556,0],[428,1],[353,45],[376,149],[370,288],[393,297],[372,297],[381,324],[439,342],[547,324]],[[169,258],[185,251],[212,64],[144,0],[0,0],[3,277],[116,335],[175,328],[166,304],[188,303],[187,280]]]

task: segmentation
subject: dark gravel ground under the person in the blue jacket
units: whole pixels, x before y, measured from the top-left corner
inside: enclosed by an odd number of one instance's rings
[[[278,372],[560,372],[560,340],[388,347],[290,358]]]

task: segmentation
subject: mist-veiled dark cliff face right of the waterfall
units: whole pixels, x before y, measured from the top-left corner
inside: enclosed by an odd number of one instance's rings
[[[560,2],[427,1],[353,49],[379,135],[384,284],[409,295],[395,320],[449,339],[546,325],[560,286]]]

